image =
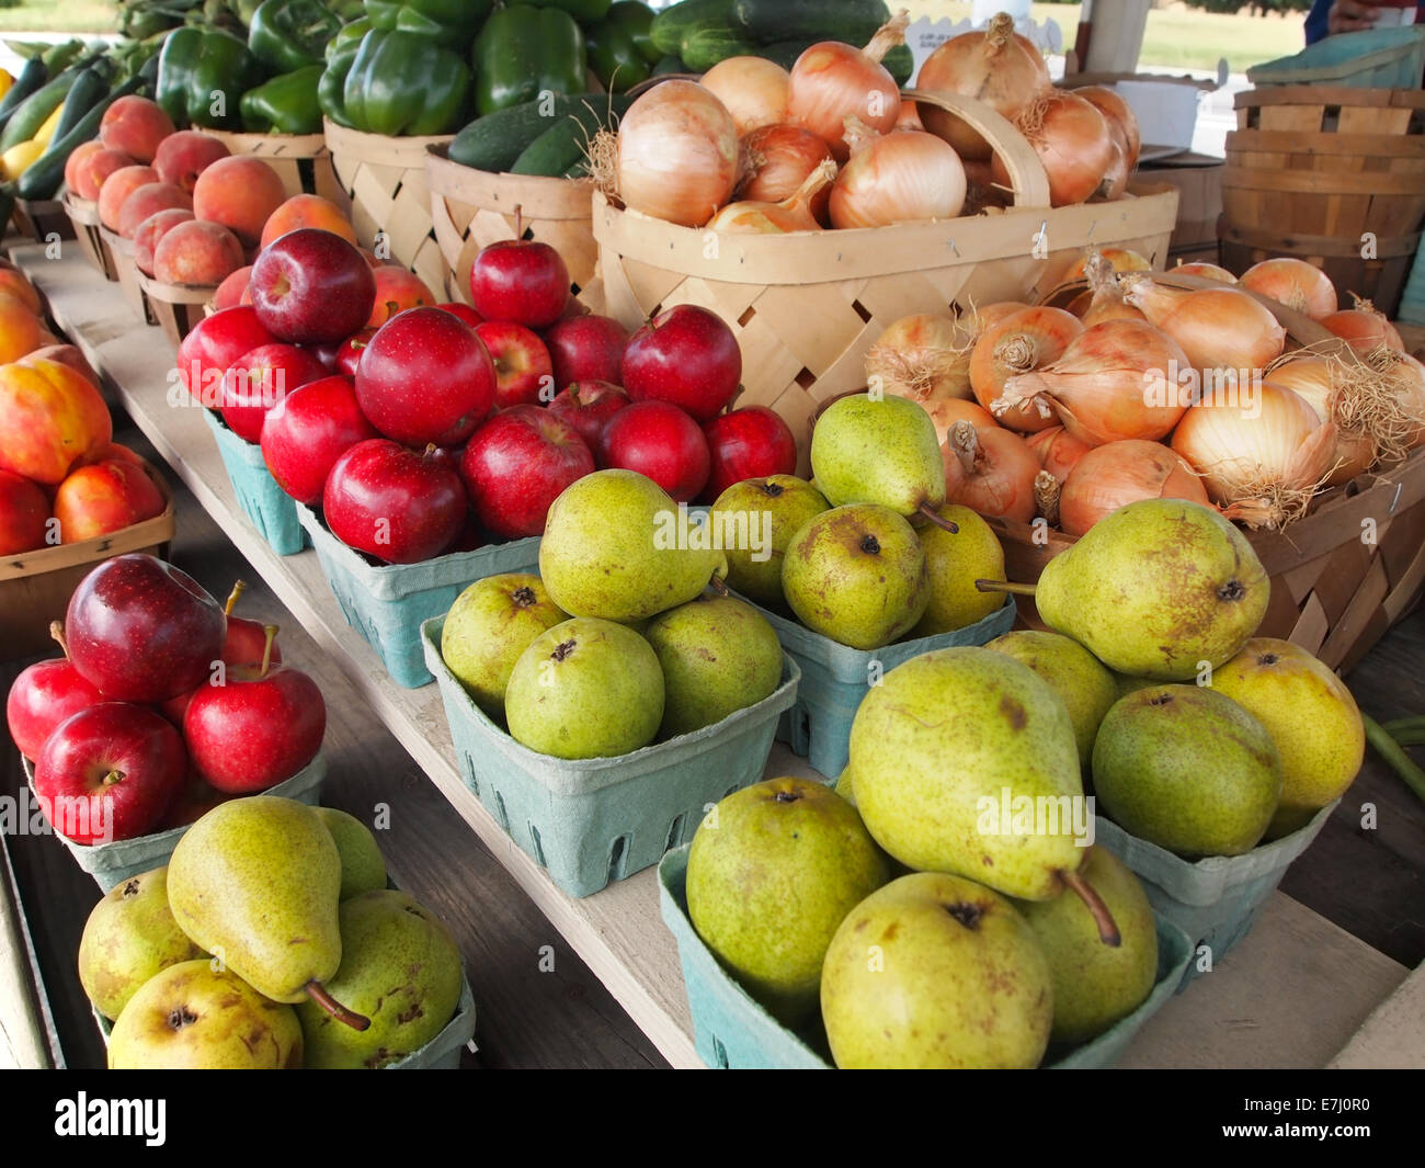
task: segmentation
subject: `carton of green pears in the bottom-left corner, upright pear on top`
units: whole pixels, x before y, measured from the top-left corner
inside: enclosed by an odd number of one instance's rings
[[[111,888],[78,968],[113,1070],[453,1070],[475,1035],[459,947],[370,830],[276,796]]]

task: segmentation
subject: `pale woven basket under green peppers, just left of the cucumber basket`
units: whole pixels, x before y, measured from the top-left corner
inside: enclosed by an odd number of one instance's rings
[[[446,262],[430,217],[426,148],[449,145],[453,135],[388,138],[332,121],[323,125],[336,178],[351,198],[356,238],[378,255],[385,244],[389,258],[410,268],[426,287],[443,288]]]

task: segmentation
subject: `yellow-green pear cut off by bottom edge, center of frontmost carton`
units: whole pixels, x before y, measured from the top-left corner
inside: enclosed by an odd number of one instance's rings
[[[945,873],[902,876],[855,906],[821,975],[826,1038],[848,1070],[1037,1067],[1053,998],[1025,918]]]

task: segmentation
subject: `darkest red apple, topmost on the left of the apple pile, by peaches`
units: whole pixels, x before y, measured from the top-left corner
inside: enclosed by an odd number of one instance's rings
[[[252,265],[252,307],[279,341],[341,341],[362,328],[376,302],[366,257],[341,235],[299,227],[279,235]]]

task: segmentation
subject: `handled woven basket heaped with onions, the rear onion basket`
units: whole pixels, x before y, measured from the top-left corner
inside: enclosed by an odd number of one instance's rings
[[[782,78],[731,58],[704,84],[656,84],[594,174],[604,311],[628,327],[674,304],[718,312],[742,347],[740,402],[774,408],[802,444],[818,405],[865,388],[866,354],[892,322],[1035,299],[1090,237],[1161,262],[1177,214],[1168,187],[1102,201],[1130,147],[1079,97],[1104,168],[1059,188],[1069,180],[1046,143],[1064,138],[1040,130],[1062,103],[1022,39],[1005,50],[1016,64],[988,74],[1035,107],[1010,111],[1037,118],[1023,121],[1033,137],[996,108],[1005,86],[901,93],[879,54],[902,27],[865,48],[812,46]]]

